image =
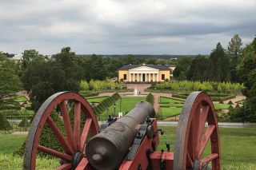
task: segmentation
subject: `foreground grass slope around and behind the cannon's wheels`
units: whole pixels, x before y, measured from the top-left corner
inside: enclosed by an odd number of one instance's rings
[[[165,133],[160,136],[158,151],[166,150],[166,142],[170,142],[170,151],[174,152],[176,127],[158,127]],[[221,139],[222,169],[256,169],[256,128],[219,128]],[[22,158],[12,156],[26,136],[0,134],[0,169],[22,169]],[[210,148],[206,148],[209,152]],[[53,169],[58,160],[37,160],[38,169]]]

